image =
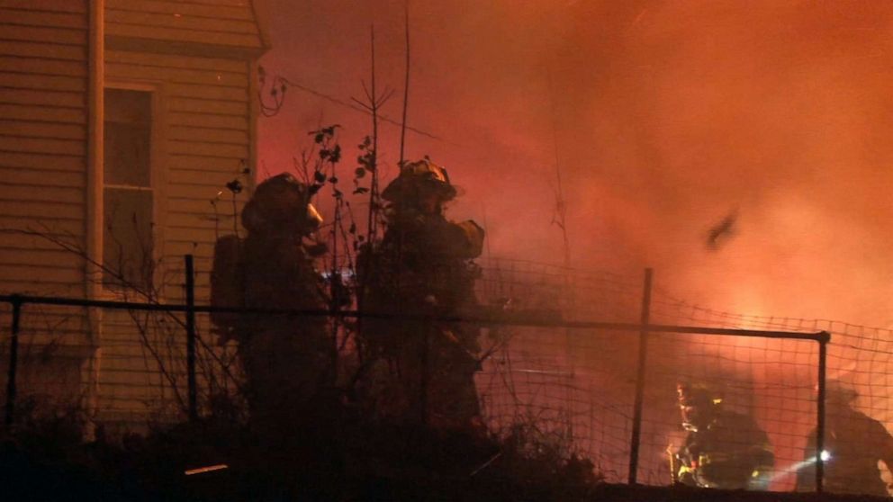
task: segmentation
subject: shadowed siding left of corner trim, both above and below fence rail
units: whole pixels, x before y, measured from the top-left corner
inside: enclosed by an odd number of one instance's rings
[[[53,241],[86,250],[88,26],[86,0],[0,1],[0,294],[86,296],[84,256]],[[18,395],[76,404],[92,354],[85,310],[22,314]]]

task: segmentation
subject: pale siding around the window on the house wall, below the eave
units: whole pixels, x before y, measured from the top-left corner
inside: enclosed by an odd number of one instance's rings
[[[229,234],[238,223],[238,213],[247,200],[241,193],[233,210],[225,184],[250,164],[252,156],[250,65],[247,60],[130,50],[106,51],[105,76],[120,82],[145,80],[163,89],[159,120],[165,130],[164,171],[165,218],[158,231],[164,247],[159,250],[164,299],[182,302],[183,255],[194,255],[195,301],[210,300],[210,271],[213,245],[218,236]],[[217,211],[212,205],[218,193]],[[234,218],[234,215],[236,217]],[[182,314],[177,314],[182,319]],[[166,322],[176,325],[176,321]],[[176,380],[186,394],[185,331],[149,330],[158,346],[170,340],[174,348],[150,354],[139,329],[127,312],[106,310],[103,326],[103,357],[98,408],[107,420],[138,422],[147,414],[166,409],[176,414],[176,399],[168,378]],[[198,331],[205,343],[209,336],[207,318],[199,316]],[[201,354],[204,350],[200,349]],[[167,376],[159,371],[162,359]],[[200,385],[203,378],[199,375]]]

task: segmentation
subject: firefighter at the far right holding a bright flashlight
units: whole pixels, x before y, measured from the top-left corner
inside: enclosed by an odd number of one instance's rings
[[[858,392],[840,381],[825,386],[825,440],[819,453],[825,465],[822,487],[832,493],[888,497],[878,461],[893,468],[893,436],[874,418],[853,408]],[[807,437],[797,490],[816,489],[816,430]]]

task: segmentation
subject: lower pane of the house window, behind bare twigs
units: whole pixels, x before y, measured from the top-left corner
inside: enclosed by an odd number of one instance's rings
[[[103,283],[147,288],[152,284],[152,193],[104,189]],[[121,278],[118,276],[120,275]]]

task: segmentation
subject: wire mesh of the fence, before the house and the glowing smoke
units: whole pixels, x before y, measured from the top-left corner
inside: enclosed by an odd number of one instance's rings
[[[479,302],[503,310],[466,319],[484,326],[487,357],[475,384],[486,426],[589,458],[609,482],[670,484],[668,451],[685,434],[680,381],[709,384],[726,410],[753,417],[774,454],[765,487],[772,490],[794,489],[805,463],[823,476],[815,459],[822,441],[808,441],[823,436],[825,381],[851,386],[856,408],[893,423],[888,330],[702,309],[651,287],[650,276],[495,259],[481,267]],[[210,413],[221,397],[239,399],[238,343],[210,320],[221,309],[205,304],[201,287],[195,300],[192,282],[179,286],[187,291],[179,303],[0,296],[7,426],[78,411],[106,426],[140,428]],[[222,310],[329,321],[360,315]],[[336,342],[348,366],[352,345]]]

